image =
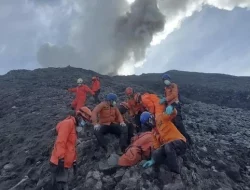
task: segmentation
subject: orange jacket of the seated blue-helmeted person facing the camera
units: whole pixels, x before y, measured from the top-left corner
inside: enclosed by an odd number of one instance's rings
[[[123,118],[117,107],[110,106],[109,102],[101,102],[92,111],[93,124],[110,125],[111,123],[123,123]],[[99,119],[99,121],[98,121]]]

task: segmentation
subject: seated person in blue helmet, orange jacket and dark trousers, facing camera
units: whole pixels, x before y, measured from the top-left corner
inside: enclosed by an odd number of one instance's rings
[[[127,147],[127,126],[124,123],[121,113],[116,107],[117,95],[110,93],[105,101],[98,104],[92,111],[92,122],[94,134],[100,146],[107,153],[107,144],[104,135],[114,134],[120,138],[120,149],[123,152]],[[116,122],[118,121],[118,124]]]

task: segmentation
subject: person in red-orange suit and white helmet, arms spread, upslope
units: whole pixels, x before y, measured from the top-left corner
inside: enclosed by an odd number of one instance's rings
[[[71,108],[76,112],[85,105],[87,93],[94,95],[94,92],[85,84],[81,78],[77,79],[78,86],[76,88],[68,89],[69,92],[76,94],[75,99],[71,103]]]

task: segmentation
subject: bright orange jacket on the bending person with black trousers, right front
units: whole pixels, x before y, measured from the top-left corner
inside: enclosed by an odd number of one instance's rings
[[[186,142],[186,138],[179,132],[176,126],[171,120],[176,116],[177,111],[171,115],[165,113],[158,114],[156,116],[156,127],[152,130],[154,133],[154,148],[157,149],[161,145],[169,143],[174,140],[183,140]]]

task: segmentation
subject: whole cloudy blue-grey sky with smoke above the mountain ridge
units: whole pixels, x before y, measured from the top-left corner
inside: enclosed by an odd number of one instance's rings
[[[250,0],[1,0],[0,74],[72,65],[249,76],[249,7]]]

